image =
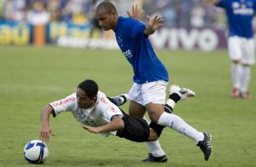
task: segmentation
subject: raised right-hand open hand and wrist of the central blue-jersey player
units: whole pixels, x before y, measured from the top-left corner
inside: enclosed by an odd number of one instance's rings
[[[144,30],[144,34],[150,35],[155,32],[160,26],[163,25],[163,18],[159,15],[155,15],[153,18],[151,18],[149,15],[146,16],[146,28]]]

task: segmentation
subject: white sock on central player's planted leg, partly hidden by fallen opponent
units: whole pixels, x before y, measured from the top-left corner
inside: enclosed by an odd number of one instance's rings
[[[150,122],[146,119],[146,117],[143,116],[143,119],[148,124],[150,124]],[[165,155],[165,152],[162,150],[162,147],[158,141],[145,142],[145,144],[148,146],[150,152],[153,154],[154,157],[160,157],[162,155]]]

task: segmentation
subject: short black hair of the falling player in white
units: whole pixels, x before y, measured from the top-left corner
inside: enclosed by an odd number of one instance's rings
[[[91,99],[97,96],[99,90],[98,84],[94,80],[89,79],[79,83],[77,87],[82,89],[86,93],[86,96]]]

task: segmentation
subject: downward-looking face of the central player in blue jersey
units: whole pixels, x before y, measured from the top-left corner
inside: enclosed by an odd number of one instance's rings
[[[115,29],[116,21],[113,13],[107,12],[105,9],[100,9],[96,13],[96,19],[103,30],[108,31]]]

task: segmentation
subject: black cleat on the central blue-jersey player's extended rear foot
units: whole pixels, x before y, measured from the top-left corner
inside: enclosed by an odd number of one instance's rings
[[[199,146],[201,151],[203,152],[204,160],[208,161],[212,153],[212,144],[211,144],[212,135],[210,133],[203,133],[203,135],[204,135],[203,140],[199,141],[197,143],[197,146]]]

